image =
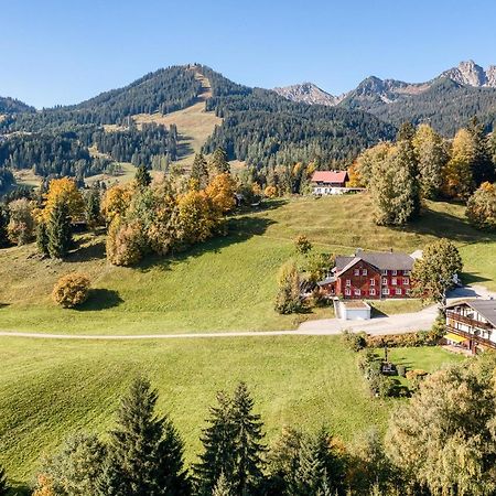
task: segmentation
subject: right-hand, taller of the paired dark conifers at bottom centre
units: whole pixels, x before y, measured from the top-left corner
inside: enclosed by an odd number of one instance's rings
[[[236,440],[233,485],[239,495],[252,494],[262,479],[263,422],[252,410],[254,399],[246,384],[240,382],[235,390],[231,409]]]

